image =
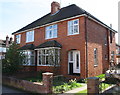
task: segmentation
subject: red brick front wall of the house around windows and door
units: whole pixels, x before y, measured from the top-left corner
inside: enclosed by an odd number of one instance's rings
[[[67,21],[62,21],[57,23],[58,24],[58,37],[57,38],[52,38],[52,39],[45,39],[45,27],[40,27],[35,29],[35,39],[34,42],[32,42],[35,46],[40,45],[41,43],[44,43],[49,40],[56,40],[58,41],[61,45],[61,70],[59,73],[63,75],[68,74],[68,51],[72,49],[76,49],[80,51],[80,56],[81,56],[81,77],[83,78],[85,74],[85,28],[84,28],[84,17],[79,17],[76,18],[79,19],[79,32],[80,34],[78,35],[71,35],[67,36]],[[71,19],[73,20],[73,19]],[[21,44],[20,46],[24,46],[26,43],[26,35],[25,32],[21,33]],[[46,69],[49,68],[49,69]],[[46,70],[50,71],[52,67],[43,67],[43,66],[38,66],[37,71],[39,70]],[[63,70],[64,68],[64,70]]]

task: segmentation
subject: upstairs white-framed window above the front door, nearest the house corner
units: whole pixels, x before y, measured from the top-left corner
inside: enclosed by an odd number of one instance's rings
[[[68,35],[79,34],[79,19],[68,21]]]

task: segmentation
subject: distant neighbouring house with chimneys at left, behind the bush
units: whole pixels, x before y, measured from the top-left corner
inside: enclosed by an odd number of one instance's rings
[[[6,40],[0,40],[0,60],[5,58],[6,49],[11,43],[12,37],[9,39],[9,37],[6,36]]]

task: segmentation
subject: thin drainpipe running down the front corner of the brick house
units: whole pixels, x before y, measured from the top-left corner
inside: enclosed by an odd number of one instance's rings
[[[86,13],[86,16],[85,16],[86,77],[88,77],[88,34],[87,34],[87,18],[88,18],[88,15],[87,15],[87,13]]]

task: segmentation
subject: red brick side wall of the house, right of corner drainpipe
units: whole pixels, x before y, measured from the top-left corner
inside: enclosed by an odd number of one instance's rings
[[[105,45],[107,29],[100,24],[87,19],[88,35],[88,77],[102,74],[108,69],[108,45]],[[98,66],[94,66],[94,48],[98,49]]]

